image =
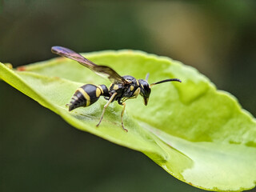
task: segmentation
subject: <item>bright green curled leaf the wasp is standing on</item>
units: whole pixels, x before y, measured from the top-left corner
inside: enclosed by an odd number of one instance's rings
[[[236,99],[220,90],[197,70],[170,58],[139,51],[103,51],[84,54],[95,63],[111,66],[121,75],[149,82],[180,78],[152,87],[148,106],[142,98],[106,109],[100,98],[93,106],[69,112],[66,103],[83,84],[110,84],[66,58],[54,58],[11,70],[0,65],[0,78],[42,106],[59,114],[79,130],[141,151],[174,177],[206,190],[240,191],[256,182],[256,121]]]

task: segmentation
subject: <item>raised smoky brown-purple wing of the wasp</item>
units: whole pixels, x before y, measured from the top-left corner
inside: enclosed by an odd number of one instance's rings
[[[98,66],[94,62],[91,62],[87,58],[82,57],[81,54],[74,52],[74,50],[67,49],[62,46],[53,46],[51,52],[58,54],[62,57],[73,59],[79,62],[82,66],[86,66],[90,70],[93,70],[96,74],[106,76],[110,79],[110,82],[128,83],[117,72],[111,69],[109,66]]]

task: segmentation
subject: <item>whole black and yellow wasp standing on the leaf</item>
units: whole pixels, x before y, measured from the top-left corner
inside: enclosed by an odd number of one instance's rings
[[[119,105],[123,106],[121,113],[122,129],[125,131],[126,128],[123,125],[123,114],[126,109],[126,100],[131,98],[137,98],[140,94],[144,99],[145,106],[147,105],[151,87],[158,85],[162,82],[182,82],[178,78],[168,78],[160,82],[154,82],[149,84],[147,82],[149,74],[146,75],[146,79],[136,79],[130,75],[120,76],[109,66],[99,66],[89,59],[82,57],[81,54],[74,52],[74,50],[67,49],[62,46],[53,46],[51,48],[52,53],[58,54],[62,57],[70,58],[74,61],[79,62],[82,66],[86,66],[90,70],[93,70],[96,74],[104,75],[110,79],[110,87],[107,88],[105,85],[92,85],[86,84],[78,88],[71,98],[69,106],[69,111],[74,110],[80,106],[91,106],[94,102],[98,101],[100,96],[103,96],[108,102],[102,110],[102,116],[96,126],[99,126],[102,122],[103,115],[106,108],[111,102],[117,101]]]

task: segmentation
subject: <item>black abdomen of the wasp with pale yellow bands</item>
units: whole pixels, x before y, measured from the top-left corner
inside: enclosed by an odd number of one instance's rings
[[[79,106],[90,106],[94,102],[98,101],[101,96],[109,96],[106,86],[94,86],[92,84],[86,84],[78,88],[71,98],[69,110],[74,110]]]

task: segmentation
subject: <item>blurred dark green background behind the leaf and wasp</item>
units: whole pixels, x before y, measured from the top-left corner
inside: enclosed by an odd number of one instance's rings
[[[196,67],[255,117],[255,10],[242,0],[0,0],[0,61],[54,58],[55,45],[143,50]],[[0,93],[1,191],[203,191],[141,153],[74,129],[5,82]]]

